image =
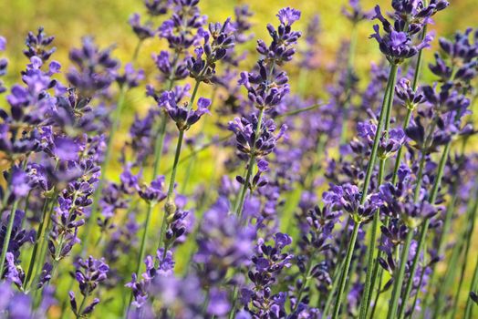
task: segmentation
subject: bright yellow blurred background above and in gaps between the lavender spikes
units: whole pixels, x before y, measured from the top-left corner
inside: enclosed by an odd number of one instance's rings
[[[476,0],[450,0],[450,2],[450,7],[436,15],[435,24],[431,26],[431,30],[436,33],[437,37],[452,36],[455,30],[478,26],[478,3]],[[390,0],[367,0],[361,3],[367,10],[372,9],[377,3],[384,11],[390,9]],[[342,6],[346,4],[346,0],[202,0],[200,7],[203,14],[209,16],[209,21],[215,22],[223,21],[227,16],[234,15],[234,5],[250,5],[251,10],[255,13],[252,18],[254,24],[252,31],[255,38],[244,47],[251,52],[254,52],[255,39],[268,37],[265,25],[268,22],[275,24],[275,14],[281,7],[294,6],[302,11],[302,19],[296,26],[297,29],[302,30],[305,29],[309,19],[318,14],[322,30],[319,36],[322,55],[319,58],[322,66],[327,66],[334,63],[341,41],[348,40],[351,33],[348,20],[340,13]],[[144,14],[144,11],[140,0],[0,0],[0,35],[7,39],[7,51],[1,56],[6,56],[9,59],[8,73],[5,77],[6,84],[11,85],[19,81],[19,72],[25,68],[27,63],[26,57],[22,54],[26,33],[30,30],[36,31],[38,26],[44,26],[47,35],[56,36],[54,45],[57,46],[57,53],[53,59],[62,64],[63,71],[68,70],[69,49],[80,46],[81,37],[86,35],[94,36],[100,47],[116,46],[114,57],[119,58],[122,64],[128,62],[138,44],[137,37],[128,25],[128,18],[134,12]],[[355,63],[359,76],[364,79],[360,86],[367,84],[370,63],[379,62],[379,48],[374,40],[369,39],[373,24],[372,21],[359,24]],[[433,49],[436,48],[436,44],[435,38]],[[144,68],[148,75],[154,74],[156,71],[151,53],[159,52],[163,46],[164,42],[158,38],[146,40],[140,50],[138,67]],[[426,50],[425,64],[431,61],[433,49]],[[255,58],[253,53],[250,62],[253,63]],[[289,68],[288,71],[292,77],[291,85],[294,91],[296,87],[294,77],[298,75],[299,70]],[[310,74],[309,77],[307,91],[317,92],[319,97],[327,98],[326,87],[320,80],[321,76]],[[424,69],[423,78],[424,81],[433,79],[428,69]],[[150,77],[149,81],[153,81],[153,77]],[[200,94],[207,96],[208,88],[202,87]],[[0,98],[2,104],[3,98],[5,95]],[[115,140],[117,149],[120,149],[124,140],[127,139],[126,132],[133,120],[133,112],[145,113],[152,103],[151,98],[145,97],[143,86],[133,89],[128,94],[128,110],[121,123],[122,131],[125,134]],[[210,127],[213,127],[213,120],[208,119],[208,121],[211,124]],[[206,129],[214,130],[213,128]],[[193,136],[195,133],[191,132],[188,135]],[[218,168],[221,167],[221,154],[221,150],[218,149],[209,149],[207,152],[201,153],[192,169],[192,180],[189,183],[192,185],[191,189],[197,182],[207,183],[212,177],[215,179],[220,177],[221,170]],[[169,167],[170,164],[165,161],[161,166],[161,173],[166,174]],[[119,170],[119,166],[109,170],[109,178],[118,179]],[[184,170],[185,168],[179,172],[178,180],[180,181],[183,179]],[[153,222],[157,224],[158,221]],[[475,234],[475,239],[476,237]],[[478,242],[478,239],[474,242]],[[185,246],[182,249],[191,249],[191,246]],[[177,256],[181,256],[181,253]],[[178,267],[181,272],[186,261],[182,261],[180,258],[178,258]],[[105,317],[114,317],[114,314],[106,314]]]

